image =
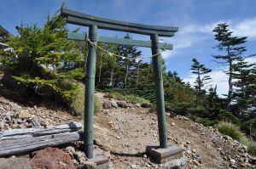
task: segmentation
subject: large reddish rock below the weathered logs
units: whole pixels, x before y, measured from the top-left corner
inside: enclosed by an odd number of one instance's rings
[[[70,155],[57,148],[38,150],[30,162],[33,169],[75,169]]]

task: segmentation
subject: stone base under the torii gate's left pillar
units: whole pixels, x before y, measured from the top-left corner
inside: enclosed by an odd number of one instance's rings
[[[88,161],[85,161],[84,167],[88,169],[108,169],[109,158],[105,155],[96,156]]]

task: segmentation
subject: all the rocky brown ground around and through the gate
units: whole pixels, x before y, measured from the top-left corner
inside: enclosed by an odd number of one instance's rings
[[[96,151],[110,157],[110,167],[163,168],[163,165],[155,164],[145,154],[147,145],[158,142],[155,112],[145,108],[148,105],[142,107],[140,104],[106,99],[102,93],[97,96],[102,100],[104,109],[95,115]],[[49,110],[36,105],[24,106],[0,96],[1,130],[32,127],[33,119],[44,126],[81,121],[81,118],[65,111]],[[212,127],[203,127],[183,116],[171,118],[168,114],[166,124],[169,144],[177,144],[184,149],[187,163],[181,168],[256,168],[256,159],[247,154],[245,146]],[[33,168],[39,168],[39,164],[49,164],[54,159],[61,161],[58,165],[63,163],[66,168],[83,168],[86,157],[81,147],[82,143],[77,142],[57,149],[43,149],[44,152],[41,150],[28,155],[13,155],[12,158],[25,157],[32,162]],[[50,157],[51,153],[57,154],[55,158],[45,157],[46,154]]]

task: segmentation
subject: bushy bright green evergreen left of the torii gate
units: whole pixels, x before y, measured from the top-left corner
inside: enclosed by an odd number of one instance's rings
[[[18,31],[20,36],[8,42],[15,53],[3,54],[5,76],[38,95],[58,93],[62,99],[72,99],[79,92],[77,81],[84,77],[79,67],[83,57],[67,40],[66,21],[55,15],[43,28],[21,25]]]

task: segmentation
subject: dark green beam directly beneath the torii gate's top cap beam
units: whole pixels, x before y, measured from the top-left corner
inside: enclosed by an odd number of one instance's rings
[[[97,25],[98,28],[111,30],[111,31],[126,31],[131,33],[138,33],[143,35],[152,35],[157,34],[160,37],[173,37],[174,31],[160,31],[160,30],[151,30],[151,29],[143,29],[137,27],[131,27],[129,25],[112,25],[106,22],[98,22],[95,20],[85,20],[81,18],[75,18],[73,16],[67,16],[67,23],[74,25]]]

